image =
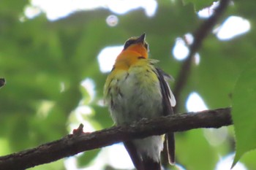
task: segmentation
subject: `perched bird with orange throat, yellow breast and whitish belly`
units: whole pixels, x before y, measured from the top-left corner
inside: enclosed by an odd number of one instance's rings
[[[129,125],[143,118],[172,115],[176,100],[167,83],[171,77],[148,59],[146,34],[132,37],[116,58],[105,82],[105,102],[116,125]],[[166,134],[168,158],[175,162],[173,133]],[[124,142],[130,158],[138,170],[160,170],[163,136],[149,136]]]

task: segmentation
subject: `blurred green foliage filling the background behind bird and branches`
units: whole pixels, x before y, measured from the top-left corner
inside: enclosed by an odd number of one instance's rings
[[[128,37],[146,32],[151,57],[158,59],[159,66],[176,78],[182,63],[171,53],[176,38],[200,26],[203,19],[198,18],[195,9],[206,7],[212,1],[185,2],[157,1],[154,17],[148,18],[142,9],[137,9],[117,15],[118,25],[111,27],[105,21],[113,14],[108,9],[75,12],[56,21],[47,20],[43,13],[31,20],[20,20],[29,1],[1,1],[0,77],[4,77],[7,84],[0,89],[0,155],[36,147],[68,134],[75,127],[72,125],[80,123],[75,116],[77,107],[91,109],[91,114],[81,115],[94,130],[113,125],[108,110],[99,104],[107,74],[100,72],[97,55],[106,46],[121,45]],[[186,100],[193,91],[202,96],[209,109],[233,105],[235,128],[239,129],[237,137],[241,141],[238,143],[249,144],[249,148],[239,147],[238,157],[255,149],[253,140],[246,138],[255,136],[255,131],[243,135],[246,128],[256,129],[253,103],[256,80],[252,74],[256,61],[251,60],[256,55],[254,4],[253,0],[233,1],[227,8],[217,26],[230,15],[236,15],[249,20],[251,29],[228,41],[220,41],[214,34],[204,40],[199,52],[200,64],[193,63],[178,108],[178,112],[187,111]],[[243,72],[248,63],[251,69]],[[81,85],[86,78],[94,82],[94,96]],[[249,85],[243,84],[246,82]],[[235,85],[238,92],[233,96]],[[243,117],[244,109],[239,106],[247,103],[249,107]],[[249,127],[244,127],[247,122]],[[222,138],[222,142],[213,142]],[[189,170],[216,169],[220,158],[235,151],[233,127],[178,133],[176,143],[177,162]],[[90,166],[98,153],[96,150],[80,156],[80,166]],[[255,152],[249,152],[241,159],[247,169],[256,167],[255,156]],[[34,169],[65,169],[63,162]]]

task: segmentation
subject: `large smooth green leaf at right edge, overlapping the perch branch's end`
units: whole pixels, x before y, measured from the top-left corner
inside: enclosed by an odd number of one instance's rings
[[[236,156],[233,166],[245,152],[256,148],[256,59],[253,59],[238,78],[233,93],[233,123],[236,132]]]

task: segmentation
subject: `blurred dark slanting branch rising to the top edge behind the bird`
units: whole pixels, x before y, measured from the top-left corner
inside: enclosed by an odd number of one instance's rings
[[[189,77],[189,74],[191,72],[191,66],[192,61],[194,58],[195,53],[200,49],[203,39],[206,38],[206,36],[211,32],[211,30],[216,25],[219,18],[222,16],[223,12],[225,12],[225,9],[227,8],[227,5],[229,4],[230,0],[220,0],[219,6],[215,9],[215,12],[213,15],[211,15],[210,18],[205,20],[199,28],[194,32],[193,37],[194,41],[192,42],[192,45],[189,46],[189,55],[187,59],[184,61],[184,63],[181,66],[181,70],[178,74],[178,77],[176,78],[176,84],[173,89],[173,93],[176,96],[177,105],[174,108],[174,112],[177,112],[178,104],[184,103],[179,102],[181,97],[181,91],[184,89],[184,86],[187,84],[187,80]]]

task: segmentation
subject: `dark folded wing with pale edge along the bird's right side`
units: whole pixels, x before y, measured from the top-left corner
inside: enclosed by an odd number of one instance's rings
[[[162,91],[163,115],[173,115],[171,100],[173,100],[173,104],[175,105],[175,98],[173,97],[173,93],[170,91],[170,87],[165,80],[165,77],[170,76],[168,74],[165,74],[165,72],[163,72],[161,69],[157,69],[157,76]],[[173,164],[175,163],[175,140],[173,132],[166,134],[166,140],[168,160],[169,163]]]

